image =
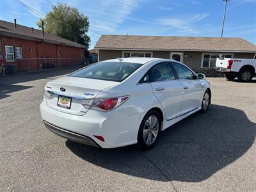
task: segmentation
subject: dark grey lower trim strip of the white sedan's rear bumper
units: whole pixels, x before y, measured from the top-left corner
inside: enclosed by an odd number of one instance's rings
[[[62,129],[60,127],[52,125],[49,122],[46,122],[45,120],[44,120],[44,125],[51,132],[54,132],[58,136],[61,136],[61,137],[66,138],[68,140],[75,141],[77,143],[83,143],[85,145],[91,145],[93,147],[100,147],[95,141],[93,141],[88,136],[84,136],[82,134],[78,134],[78,133],[72,132],[72,131],[67,131],[67,130]]]

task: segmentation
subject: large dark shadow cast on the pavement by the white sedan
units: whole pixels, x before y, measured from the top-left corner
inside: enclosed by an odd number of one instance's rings
[[[169,129],[151,150],[129,147],[102,149],[73,141],[66,145],[77,156],[102,168],[150,180],[200,182],[248,151],[256,124],[244,111],[212,104]]]

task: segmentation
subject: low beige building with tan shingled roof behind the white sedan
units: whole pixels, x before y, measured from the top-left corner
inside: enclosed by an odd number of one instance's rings
[[[197,72],[213,76],[216,58],[253,58],[256,45],[243,38],[191,36],[102,35],[95,45],[99,61],[153,57],[181,61]]]

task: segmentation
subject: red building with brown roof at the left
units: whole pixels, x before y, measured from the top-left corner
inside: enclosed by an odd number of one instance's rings
[[[0,20],[0,58],[5,67],[13,65],[19,71],[64,67],[81,62],[84,49],[84,45],[16,24],[16,20]]]

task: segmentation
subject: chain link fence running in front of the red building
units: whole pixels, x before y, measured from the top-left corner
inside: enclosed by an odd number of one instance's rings
[[[86,58],[29,58],[15,61],[4,61],[4,74],[33,72],[63,67],[84,67],[92,61]]]

